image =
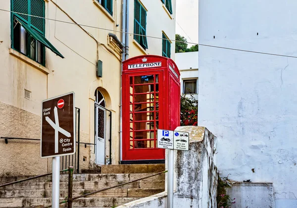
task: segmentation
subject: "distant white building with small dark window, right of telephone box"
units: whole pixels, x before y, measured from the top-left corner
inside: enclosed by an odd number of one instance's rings
[[[198,100],[198,52],[175,53],[175,62],[181,73],[181,94],[190,96]]]

